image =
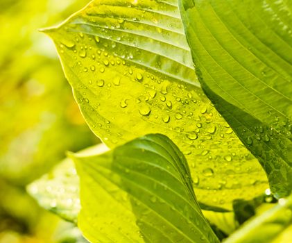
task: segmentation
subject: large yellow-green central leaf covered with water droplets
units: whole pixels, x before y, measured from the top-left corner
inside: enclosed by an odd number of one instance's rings
[[[167,135],[189,162],[198,200],[209,206],[231,209],[234,199],[268,187],[257,160],[198,87],[176,1],[92,1],[46,33],[105,144]]]

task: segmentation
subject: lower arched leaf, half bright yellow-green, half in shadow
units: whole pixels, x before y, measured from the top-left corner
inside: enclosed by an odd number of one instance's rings
[[[203,217],[187,161],[164,135],[99,156],[72,155],[80,177],[78,226],[91,242],[218,242]]]

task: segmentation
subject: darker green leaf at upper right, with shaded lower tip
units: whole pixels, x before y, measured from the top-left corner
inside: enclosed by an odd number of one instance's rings
[[[180,1],[203,90],[259,158],[277,198],[292,188],[291,7],[291,1]]]

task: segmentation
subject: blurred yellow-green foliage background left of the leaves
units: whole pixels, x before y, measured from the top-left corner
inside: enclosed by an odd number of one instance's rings
[[[39,28],[88,0],[0,0],[0,243],[85,242],[77,228],[42,210],[28,183],[98,143],[81,117],[55,47]]]

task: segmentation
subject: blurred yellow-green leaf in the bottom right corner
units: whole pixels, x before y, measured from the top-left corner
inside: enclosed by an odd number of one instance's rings
[[[289,196],[287,199],[280,199],[276,206],[266,210],[263,214],[246,221],[238,231],[230,235],[224,242],[273,242],[277,237],[283,237],[281,234],[287,227],[291,226],[291,222],[292,196]]]

